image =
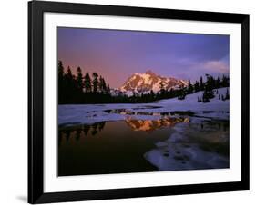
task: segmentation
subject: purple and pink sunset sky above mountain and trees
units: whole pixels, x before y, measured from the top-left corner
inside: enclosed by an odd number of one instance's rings
[[[230,36],[58,27],[57,55],[66,69],[96,72],[111,88],[148,70],[194,82],[229,74]]]

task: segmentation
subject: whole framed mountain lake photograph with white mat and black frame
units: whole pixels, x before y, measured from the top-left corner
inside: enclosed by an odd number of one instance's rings
[[[28,3],[28,202],[249,190],[249,15]]]

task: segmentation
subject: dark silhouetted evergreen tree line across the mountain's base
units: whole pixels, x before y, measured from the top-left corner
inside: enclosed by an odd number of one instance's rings
[[[147,103],[175,97],[184,100],[187,94],[200,91],[203,91],[203,94],[198,102],[210,102],[216,94],[213,89],[230,86],[230,78],[225,75],[214,78],[206,74],[205,79],[204,81],[201,76],[200,81],[191,83],[189,80],[188,86],[170,90],[165,89],[161,83],[158,93],[151,90],[148,93],[133,93],[132,96],[123,93],[113,96],[109,83],[103,76],[98,73],[92,73],[90,76],[88,72],[84,75],[80,67],[77,67],[77,73],[74,74],[69,66],[65,69],[63,63],[58,61],[58,103]],[[229,99],[229,93],[225,96],[219,95],[219,99]]]

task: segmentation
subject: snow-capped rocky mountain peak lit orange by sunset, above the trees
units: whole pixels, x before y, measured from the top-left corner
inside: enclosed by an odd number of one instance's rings
[[[119,88],[121,92],[147,93],[151,90],[159,92],[161,87],[166,90],[187,86],[188,82],[172,77],[163,77],[148,70],[146,73],[134,73]]]

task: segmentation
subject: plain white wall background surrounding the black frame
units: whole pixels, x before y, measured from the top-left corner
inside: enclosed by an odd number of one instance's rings
[[[251,15],[251,190],[125,200],[97,200],[87,201],[87,204],[255,204],[256,72],[254,69],[255,61],[253,61],[253,56],[256,56],[255,1],[73,0],[72,2],[206,10]],[[15,205],[26,203],[27,189],[27,1],[2,1],[0,26],[0,204]],[[82,203],[85,202],[74,204]]]

